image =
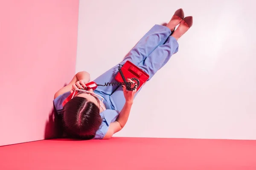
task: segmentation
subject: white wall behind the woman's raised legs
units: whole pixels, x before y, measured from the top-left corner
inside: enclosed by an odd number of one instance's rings
[[[194,24],[179,40],[179,52],[137,95],[115,136],[256,139],[256,12],[250,0],[80,0],[76,71],[95,79],[178,8]]]

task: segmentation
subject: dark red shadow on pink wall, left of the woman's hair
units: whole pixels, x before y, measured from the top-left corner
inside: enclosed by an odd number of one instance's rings
[[[66,85],[67,84],[65,84],[63,87]],[[45,123],[44,139],[54,139],[61,137],[63,137],[62,117],[57,115],[54,107],[52,106],[52,109],[49,112],[49,119]]]

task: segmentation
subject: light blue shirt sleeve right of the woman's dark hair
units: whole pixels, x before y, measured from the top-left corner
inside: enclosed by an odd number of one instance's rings
[[[115,122],[119,111],[107,109],[100,113],[103,118],[102,125],[96,132],[96,136],[93,139],[102,139],[108,131],[111,122]]]

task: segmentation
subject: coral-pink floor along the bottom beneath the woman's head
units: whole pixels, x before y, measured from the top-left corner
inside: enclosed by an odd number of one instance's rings
[[[256,141],[52,139],[0,147],[0,170],[256,170]]]

